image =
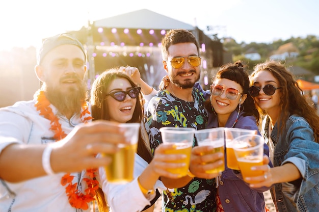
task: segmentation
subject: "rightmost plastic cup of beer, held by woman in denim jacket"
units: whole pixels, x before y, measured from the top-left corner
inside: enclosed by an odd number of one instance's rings
[[[263,175],[263,171],[251,170],[253,166],[263,165],[263,138],[259,135],[244,135],[235,138],[234,142],[236,144],[233,149],[244,180],[247,183],[256,183],[257,181],[247,181],[245,178]]]

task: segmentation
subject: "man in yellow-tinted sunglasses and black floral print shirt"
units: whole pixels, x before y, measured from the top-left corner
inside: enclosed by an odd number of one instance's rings
[[[174,126],[198,130],[205,128],[207,123],[207,111],[203,107],[205,99],[194,88],[199,80],[201,63],[195,36],[186,30],[171,30],[163,38],[162,56],[171,83],[149,101],[145,110],[145,127],[152,152],[162,143],[159,128]],[[194,140],[193,146],[196,145]],[[168,179],[162,180],[168,188],[177,187]],[[178,180],[186,186],[164,191],[165,211],[216,210],[215,179],[185,176]]]

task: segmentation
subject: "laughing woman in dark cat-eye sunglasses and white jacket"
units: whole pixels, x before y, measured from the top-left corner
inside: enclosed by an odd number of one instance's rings
[[[137,87],[120,68],[104,71],[96,78],[92,85],[90,101],[93,121],[103,119],[120,123],[141,123],[144,115],[140,87]],[[109,206],[113,211],[153,211],[153,204],[160,196],[156,188],[166,190],[163,183],[158,180],[159,177],[178,178],[178,174],[168,173],[166,168],[174,169],[182,166],[178,163],[168,163],[178,160],[182,155],[168,158],[164,151],[171,147],[160,145],[152,157],[143,126],[142,124],[140,129],[135,155],[135,179],[132,182],[108,183],[105,170],[99,169],[99,181],[102,187],[97,190],[99,211],[108,211]]]

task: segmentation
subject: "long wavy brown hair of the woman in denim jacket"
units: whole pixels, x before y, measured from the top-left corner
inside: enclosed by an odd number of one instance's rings
[[[257,64],[251,74],[253,77],[259,71],[269,71],[278,80],[281,89],[280,115],[277,121],[279,133],[283,131],[289,115],[296,114],[307,120],[313,130],[315,142],[319,138],[319,116],[315,109],[308,104],[302,89],[298,86],[295,76],[285,65],[276,61],[266,61]],[[253,84],[253,82],[252,82]],[[256,105],[261,115],[267,113]]]

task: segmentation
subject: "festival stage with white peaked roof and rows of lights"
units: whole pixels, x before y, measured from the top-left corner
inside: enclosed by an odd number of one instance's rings
[[[166,74],[162,65],[161,41],[171,29],[193,32],[200,43],[201,83],[209,84],[211,71],[222,64],[222,44],[192,26],[147,9],[93,21],[73,34],[85,44],[89,84],[102,71],[118,66],[138,67],[145,82],[157,89]],[[215,71],[214,71],[215,72]]]

